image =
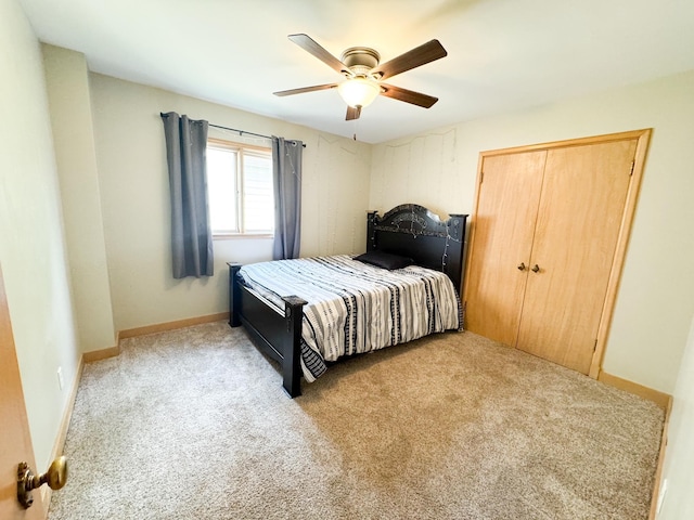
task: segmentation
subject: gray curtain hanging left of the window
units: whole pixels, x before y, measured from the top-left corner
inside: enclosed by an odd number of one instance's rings
[[[171,193],[174,277],[213,275],[207,211],[207,121],[162,114]]]

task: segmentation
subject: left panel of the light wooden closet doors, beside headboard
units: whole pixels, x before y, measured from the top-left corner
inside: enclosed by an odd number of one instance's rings
[[[510,346],[518,334],[545,157],[547,151],[485,157],[479,176],[465,328]]]

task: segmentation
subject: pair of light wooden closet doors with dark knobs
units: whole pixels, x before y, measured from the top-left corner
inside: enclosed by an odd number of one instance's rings
[[[466,329],[597,376],[648,136],[481,154]]]

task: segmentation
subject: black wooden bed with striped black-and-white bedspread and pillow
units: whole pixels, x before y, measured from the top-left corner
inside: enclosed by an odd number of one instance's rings
[[[368,213],[363,255],[229,262],[229,324],[280,363],[291,398],[338,358],[460,329],[466,218],[403,204]]]

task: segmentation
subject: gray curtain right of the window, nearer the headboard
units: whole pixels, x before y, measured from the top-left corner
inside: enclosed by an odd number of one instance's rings
[[[300,141],[272,136],[274,186],[274,245],[272,258],[298,258],[301,242],[301,153]]]

